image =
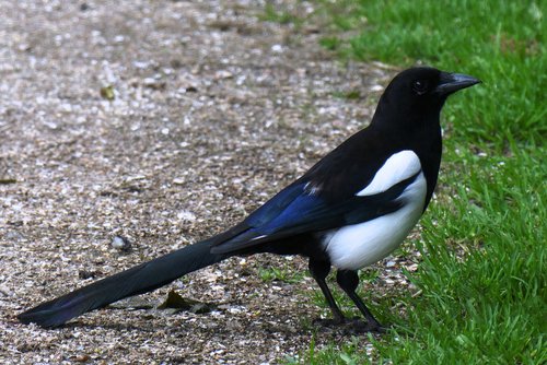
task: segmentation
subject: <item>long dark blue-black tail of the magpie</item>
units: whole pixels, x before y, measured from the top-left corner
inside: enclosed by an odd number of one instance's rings
[[[23,323],[56,327],[86,311],[102,308],[128,296],[151,292],[184,274],[222,261],[230,256],[210,252],[207,239],[137,267],[107,276],[18,316]]]

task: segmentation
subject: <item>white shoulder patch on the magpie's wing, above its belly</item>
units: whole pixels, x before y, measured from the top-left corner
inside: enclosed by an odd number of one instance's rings
[[[420,170],[420,158],[416,153],[410,150],[397,152],[387,158],[376,175],[374,175],[371,184],[359,191],[357,196],[364,197],[384,192],[397,182],[418,174]]]

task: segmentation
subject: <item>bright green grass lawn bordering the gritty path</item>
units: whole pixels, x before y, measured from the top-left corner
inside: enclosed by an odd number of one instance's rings
[[[328,23],[321,44],[342,59],[430,64],[484,83],[451,97],[443,110],[438,199],[421,221],[421,238],[411,243],[422,252],[419,270],[407,273],[422,294],[375,301],[373,311],[394,326],[388,333],[324,349],[312,341],[291,362],[546,363],[545,2],[317,7]],[[407,308],[405,317],[382,311],[393,302]],[[371,355],[363,351],[369,341]]]

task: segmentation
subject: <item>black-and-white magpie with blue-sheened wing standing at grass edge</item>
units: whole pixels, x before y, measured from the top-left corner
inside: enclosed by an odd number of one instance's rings
[[[366,128],[233,227],[39,304],[18,319],[59,327],[231,257],[269,252],[309,259],[310,274],[331,311],[325,325],[383,331],[356,292],[358,271],[396,249],[426,211],[441,164],[441,109],[451,94],[477,83],[432,67],[399,72]],[[333,267],[361,318],[345,317],[336,303],[326,282]]]

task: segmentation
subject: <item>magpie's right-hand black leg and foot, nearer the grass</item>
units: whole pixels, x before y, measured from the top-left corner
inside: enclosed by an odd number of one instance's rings
[[[359,285],[359,275],[357,271],[352,270],[338,270],[336,274],[338,285],[346,292],[346,294],[353,301],[361,314],[366,318],[366,322],[361,320],[353,321],[353,329],[360,332],[383,331],[384,327],[374,318],[372,313],[366,308],[363,301],[357,295],[356,289]]]

